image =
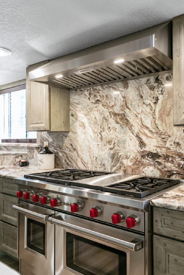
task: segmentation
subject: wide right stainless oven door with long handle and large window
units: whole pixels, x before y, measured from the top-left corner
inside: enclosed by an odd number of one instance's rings
[[[143,275],[144,236],[57,213],[55,274]]]

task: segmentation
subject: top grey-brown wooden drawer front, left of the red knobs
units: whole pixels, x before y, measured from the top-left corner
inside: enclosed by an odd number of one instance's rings
[[[16,196],[18,185],[13,183],[13,179],[0,178],[0,193]]]

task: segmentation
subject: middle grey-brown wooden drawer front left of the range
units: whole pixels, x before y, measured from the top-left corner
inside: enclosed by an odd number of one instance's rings
[[[0,194],[0,220],[17,225],[18,214],[12,209],[13,204],[18,204],[18,198]]]

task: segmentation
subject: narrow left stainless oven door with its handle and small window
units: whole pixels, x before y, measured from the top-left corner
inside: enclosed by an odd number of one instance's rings
[[[20,273],[23,275],[54,275],[55,226],[48,223],[54,211],[20,202],[14,205],[19,212],[18,254]]]

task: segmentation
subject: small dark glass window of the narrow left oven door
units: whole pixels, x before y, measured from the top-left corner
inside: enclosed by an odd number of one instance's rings
[[[27,219],[27,247],[45,255],[45,224]]]

